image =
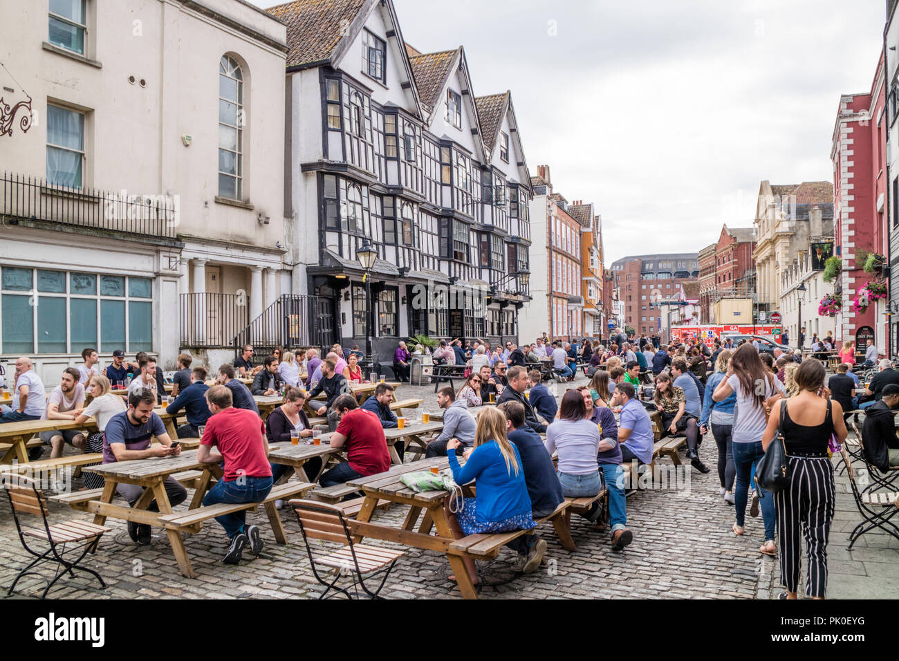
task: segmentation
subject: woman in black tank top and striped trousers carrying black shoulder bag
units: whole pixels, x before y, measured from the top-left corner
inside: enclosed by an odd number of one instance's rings
[[[787,588],[781,599],[797,599],[799,586],[799,532],[806,538],[808,574],[806,596],[823,599],[827,593],[827,538],[831,531],[836,489],[833,465],[827,456],[831,434],[846,440],[842,406],[824,392],[824,368],[818,361],[803,361],[796,371],[795,397],[774,406],[761,440],[767,450],[778,433],[783,410],[783,438],[791,478],[789,487],[774,495],[778,512],[780,578]]]

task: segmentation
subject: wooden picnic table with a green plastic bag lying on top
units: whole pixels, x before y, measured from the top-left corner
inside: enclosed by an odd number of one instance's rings
[[[458,582],[458,589],[466,599],[476,599],[475,586],[471,583],[465,563],[462,560],[463,552],[452,549],[451,544],[456,539],[449,528],[449,520],[444,510],[444,503],[449,498],[449,491],[423,491],[415,493],[400,480],[405,473],[416,470],[430,470],[437,466],[441,470],[449,469],[449,459],[446,457],[434,457],[413,461],[403,466],[394,466],[385,473],[378,473],[368,478],[350,480],[347,485],[359,488],[365,494],[359,515],[355,521],[347,522],[352,528],[354,542],[359,544],[365,538],[376,540],[394,541],[415,549],[435,550],[444,553],[449,560]],[[409,513],[401,528],[394,528],[381,523],[370,523],[371,516],[378,505],[379,500],[387,500],[399,505],[409,505]],[[418,531],[415,524],[424,511],[424,518]],[[432,535],[432,528],[436,534]]]

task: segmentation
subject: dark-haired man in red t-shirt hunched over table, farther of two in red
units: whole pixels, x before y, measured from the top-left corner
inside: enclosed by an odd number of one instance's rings
[[[334,487],[389,469],[390,452],[378,415],[360,408],[352,395],[337,397],[331,407],[340,415],[337,431],[331,434],[331,447],[345,446],[347,460],[326,471],[318,484]]]

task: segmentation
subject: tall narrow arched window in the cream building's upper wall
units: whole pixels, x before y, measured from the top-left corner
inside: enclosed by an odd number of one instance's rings
[[[227,55],[218,63],[218,195],[243,198],[244,74]]]

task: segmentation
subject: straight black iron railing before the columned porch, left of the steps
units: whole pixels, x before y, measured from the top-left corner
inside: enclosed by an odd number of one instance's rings
[[[243,294],[182,294],[182,348],[226,349],[249,324],[249,299]]]

